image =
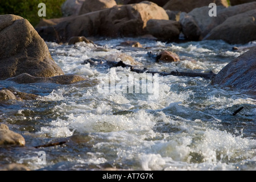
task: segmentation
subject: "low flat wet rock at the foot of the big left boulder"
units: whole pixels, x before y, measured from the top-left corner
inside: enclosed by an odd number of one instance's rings
[[[75,82],[79,81],[85,81],[86,78],[79,76],[79,75],[60,75],[60,76],[54,76],[54,77],[35,77],[31,76],[27,73],[22,73],[19,76],[12,77],[7,79],[8,81],[14,81],[18,84],[30,84],[30,83],[36,83],[36,82],[49,82],[49,83],[55,83],[55,84],[73,84]]]

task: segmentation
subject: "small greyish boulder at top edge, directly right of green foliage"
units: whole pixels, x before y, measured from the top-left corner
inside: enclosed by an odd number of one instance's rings
[[[61,12],[63,16],[79,15],[82,3],[85,0],[66,0],[61,5]]]

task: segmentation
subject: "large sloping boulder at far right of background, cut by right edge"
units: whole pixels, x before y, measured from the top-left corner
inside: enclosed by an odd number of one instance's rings
[[[230,44],[245,44],[256,40],[256,10],[231,16],[213,28],[204,40],[224,40]]]

